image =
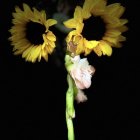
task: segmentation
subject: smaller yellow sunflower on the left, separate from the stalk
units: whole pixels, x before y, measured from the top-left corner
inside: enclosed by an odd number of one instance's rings
[[[56,41],[49,27],[57,21],[46,19],[45,11],[31,9],[27,4],[23,4],[23,10],[15,7],[13,17],[9,40],[14,46],[14,54],[22,54],[22,58],[30,62],[35,62],[37,59],[40,61],[41,57],[48,61],[48,54],[53,52]]]

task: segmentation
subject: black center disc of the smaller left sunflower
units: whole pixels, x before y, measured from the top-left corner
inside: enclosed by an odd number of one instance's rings
[[[43,33],[45,33],[45,26],[36,23],[28,22],[26,25],[26,38],[34,45],[43,44]]]

